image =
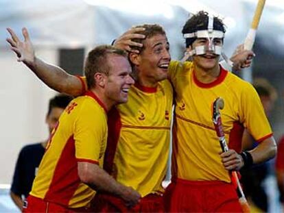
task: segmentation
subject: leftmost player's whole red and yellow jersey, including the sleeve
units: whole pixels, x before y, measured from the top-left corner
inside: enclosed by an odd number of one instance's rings
[[[95,191],[78,177],[78,162],[102,165],[108,134],[104,105],[91,91],[73,99],[51,133],[30,195],[67,208],[88,206]]]

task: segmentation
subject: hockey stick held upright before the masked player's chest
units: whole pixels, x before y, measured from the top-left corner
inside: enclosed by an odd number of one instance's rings
[[[225,134],[222,127],[221,114],[220,114],[220,110],[222,110],[223,108],[224,108],[224,100],[218,97],[217,99],[215,99],[213,103],[212,119],[216,134],[219,138],[222,151],[225,152],[228,151],[228,145],[226,143]],[[239,178],[237,176],[236,171],[231,172],[231,180],[237,191],[237,196],[239,197],[239,203],[241,204],[241,209],[243,210],[243,212],[250,212],[248,201],[246,201],[246,197],[244,196],[244,192],[241,188],[241,184],[239,183]]]

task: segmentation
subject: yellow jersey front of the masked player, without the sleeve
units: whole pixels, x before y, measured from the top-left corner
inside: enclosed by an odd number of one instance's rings
[[[212,104],[222,97],[225,108],[221,111],[223,129],[227,142],[240,148],[240,138],[232,138],[233,131],[242,134],[239,128],[239,88],[237,81],[226,71],[209,85],[194,80],[191,68],[177,73],[176,110],[174,122],[174,173],[179,178],[190,180],[230,181],[220,158],[220,144],[212,122]],[[234,85],[235,84],[235,85]],[[233,86],[232,86],[233,85]],[[235,88],[234,88],[235,87]],[[236,128],[237,127],[237,128]]]

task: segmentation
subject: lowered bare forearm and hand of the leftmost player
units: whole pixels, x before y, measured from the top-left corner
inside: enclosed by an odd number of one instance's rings
[[[128,207],[136,205],[141,195],[129,186],[124,186],[115,181],[106,171],[97,164],[78,162],[78,175],[84,184],[96,191],[108,192],[121,197]]]

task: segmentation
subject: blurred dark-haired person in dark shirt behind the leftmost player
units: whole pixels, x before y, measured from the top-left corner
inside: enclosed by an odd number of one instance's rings
[[[52,129],[56,126],[64,108],[67,107],[72,99],[71,96],[62,94],[56,95],[49,100],[47,116],[45,118],[45,122],[49,129],[49,136]],[[43,142],[26,145],[19,153],[12,180],[10,196],[20,210],[23,210],[23,201],[27,198],[32,189],[32,182],[34,181],[34,177],[36,177],[38,166],[45,153],[47,141],[48,140],[44,140]]]

